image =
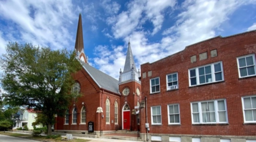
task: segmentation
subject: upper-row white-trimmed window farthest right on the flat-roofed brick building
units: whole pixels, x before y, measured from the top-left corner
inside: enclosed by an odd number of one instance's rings
[[[255,76],[255,54],[237,57],[239,78]]]

